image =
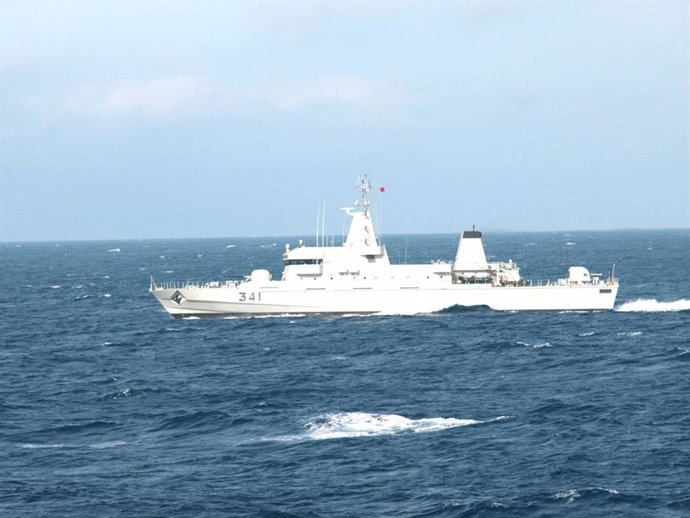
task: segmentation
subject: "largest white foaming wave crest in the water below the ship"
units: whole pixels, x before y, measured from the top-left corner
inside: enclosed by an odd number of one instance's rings
[[[375,437],[400,433],[440,432],[450,428],[484,424],[508,419],[499,416],[488,421],[457,419],[455,417],[428,417],[410,419],[397,414],[370,414],[367,412],[336,412],[318,416],[306,425],[306,432],[297,436],[286,436],[279,440],[327,440],[353,437]]]

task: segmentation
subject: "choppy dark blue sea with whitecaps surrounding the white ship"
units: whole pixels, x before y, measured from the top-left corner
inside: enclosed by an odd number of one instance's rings
[[[175,320],[148,293],[279,276],[299,237],[1,243],[0,516],[690,516],[690,230],[485,234],[533,280],[615,263],[605,312]]]

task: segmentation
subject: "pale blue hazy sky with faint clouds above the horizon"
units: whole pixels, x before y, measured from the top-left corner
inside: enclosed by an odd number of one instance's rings
[[[0,240],[690,227],[687,0],[0,0]]]

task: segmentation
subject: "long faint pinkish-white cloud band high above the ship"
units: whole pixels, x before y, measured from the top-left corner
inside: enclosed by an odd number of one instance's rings
[[[87,117],[153,117],[252,110],[300,112],[344,109],[349,119],[399,123],[412,96],[386,81],[327,76],[234,85],[204,77],[87,84],[69,91],[33,96],[44,112]]]

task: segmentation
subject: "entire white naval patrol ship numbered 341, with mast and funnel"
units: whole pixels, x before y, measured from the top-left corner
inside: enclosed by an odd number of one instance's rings
[[[374,231],[368,180],[342,246],[286,245],[280,280],[254,270],[241,282],[156,283],[150,291],[174,317],[288,314],[416,314],[452,306],[505,311],[612,309],[618,281],[571,266],[568,277],[534,285],[513,261],[488,262],[481,232],[463,232],[455,260],[391,264]],[[318,243],[318,239],[317,239]]]

